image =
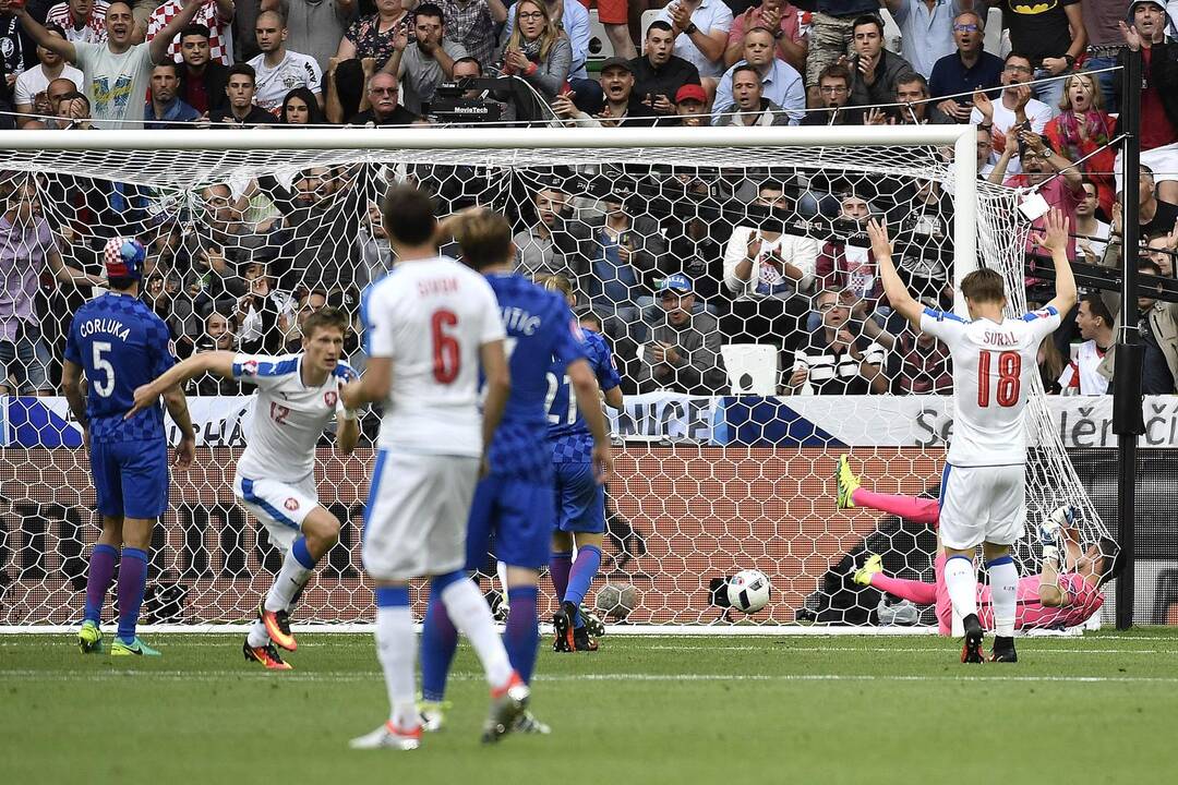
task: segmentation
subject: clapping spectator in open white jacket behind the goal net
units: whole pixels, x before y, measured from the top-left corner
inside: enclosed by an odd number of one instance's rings
[[[724,286],[734,301],[723,333],[793,346],[808,308],[818,241],[785,231],[790,201],[780,182],[762,182],[750,207],[760,226],[737,226],[724,247]]]

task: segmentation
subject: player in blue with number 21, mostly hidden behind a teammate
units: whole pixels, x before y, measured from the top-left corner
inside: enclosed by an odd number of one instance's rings
[[[570,306],[576,302],[567,278],[551,275],[543,280],[543,285],[561,292]],[[605,404],[622,408],[621,379],[609,345],[600,333],[588,330],[584,331],[584,345]],[[548,433],[552,439],[552,463],[556,466],[556,531],[552,533],[549,574],[560,603],[552,617],[552,651],[597,651],[597,641],[590,637],[581,613],[581,603],[601,568],[605,487],[597,481],[594,468],[591,451],[595,439],[591,438],[590,425],[582,415],[582,407],[573,406],[571,377],[562,373],[555,364],[550,375],[555,381],[555,394],[550,397],[548,407]]]

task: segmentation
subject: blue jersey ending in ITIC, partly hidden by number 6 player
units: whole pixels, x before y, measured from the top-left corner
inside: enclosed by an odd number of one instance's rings
[[[487,281],[499,302],[511,368],[511,395],[488,453],[491,471],[547,483],[552,477],[547,405],[564,367],[585,355],[581,328],[563,298],[523,275],[489,275]]]

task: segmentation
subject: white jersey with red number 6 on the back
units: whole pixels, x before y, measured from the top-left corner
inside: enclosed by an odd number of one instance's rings
[[[436,257],[403,261],[364,292],[369,357],[392,360],[379,446],[478,457],[478,350],[503,340],[498,301],[487,279]]]

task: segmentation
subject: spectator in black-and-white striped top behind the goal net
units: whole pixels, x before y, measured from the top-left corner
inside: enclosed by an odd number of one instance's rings
[[[866,395],[887,392],[886,352],[862,334],[839,292],[822,290],[814,298],[821,324],[793,353],[786,372],[786,394]],[[808,387],[808,390],[807,390]]]

